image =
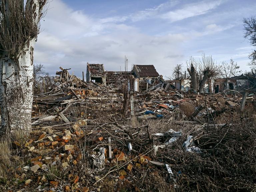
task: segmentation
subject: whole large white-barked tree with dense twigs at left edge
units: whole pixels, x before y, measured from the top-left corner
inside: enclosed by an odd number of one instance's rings
[[[47,0],[0,0],[0,136],[31,130],[33,52]]]

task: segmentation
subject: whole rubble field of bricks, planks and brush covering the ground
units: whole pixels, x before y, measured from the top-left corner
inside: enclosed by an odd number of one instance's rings
[[[152,88],[131,93],[125,117],[122,89],[56,74],[58,86],[34,96],[30,136],[1,164],[1,189],[255,191],[253,96],[242,114],[239,93]]]

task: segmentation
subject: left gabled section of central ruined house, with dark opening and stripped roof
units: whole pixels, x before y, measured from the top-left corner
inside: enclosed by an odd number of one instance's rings
[[[106,71],[103,64],[87,63],[86,81],[106,85]]]

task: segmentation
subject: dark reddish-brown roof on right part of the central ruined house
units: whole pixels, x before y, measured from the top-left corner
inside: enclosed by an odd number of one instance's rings
[[[149,79],[155,79],[159,77],[154,65],[133,65],[132,73],[135,78],[140,80],[149,77]]]

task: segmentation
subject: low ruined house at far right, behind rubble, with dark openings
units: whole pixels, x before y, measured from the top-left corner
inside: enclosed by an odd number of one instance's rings
[[[246,75],[234,76],[230,78],[215,79],[214,92],[222,92],[225,90],[241,91],[254,86],[254,79]]]

